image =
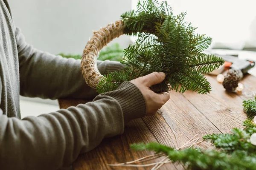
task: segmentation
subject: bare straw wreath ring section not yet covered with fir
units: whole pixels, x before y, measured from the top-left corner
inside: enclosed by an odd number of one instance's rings
[[[91,88],[96,88],[102,75],[97,68],[100,50],[111,40],[124,34],[122,20],[108,24],[105,28],[93,32],[93,37],[87,42],[81,58],[81,71],[85,82]]]

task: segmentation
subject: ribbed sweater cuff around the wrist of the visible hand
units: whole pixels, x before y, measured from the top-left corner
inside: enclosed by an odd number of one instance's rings
[[[125,124],[146,115],[145,99],[133,83],[123,82],[116,91],[108,92],[108,96],[115,98],[121,105]]]

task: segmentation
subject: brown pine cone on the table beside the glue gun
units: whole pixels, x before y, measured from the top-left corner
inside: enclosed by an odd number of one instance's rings
[[[227,91],[235,91],[238,87],[238,82],[243,78],[241,70],[229,70],[222,83]]]

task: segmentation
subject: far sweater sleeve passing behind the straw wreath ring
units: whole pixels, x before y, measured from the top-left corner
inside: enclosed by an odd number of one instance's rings
[[[88,87],[82,77],[78,59],[67,59],[40,51],[28,45],[19,28],[15,38],[19,56],[20,95],[49,99],[93,99],[97,93]],[[101,74],[122,70],[120,62],[98,61]]]

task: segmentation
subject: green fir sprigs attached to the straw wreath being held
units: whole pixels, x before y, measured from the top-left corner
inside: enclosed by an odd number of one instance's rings
[[[121,15],[125,34],[137,35],[134,45],[124,51],[123,71],[104,75],[97,91],[115,90],[123,81],[130,81],[154,71],[164,72],[166,79],[151,87],[155,92],[171,90],[183,93],[187,90],[207,94],[211,87],[203,74],[214,71],[224,63],[215,55],[204,54],[212,39],[195,34],[196,28],[184,21],[186,13],[177,16],[165,2],[139,1],[137,10]]]

